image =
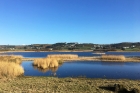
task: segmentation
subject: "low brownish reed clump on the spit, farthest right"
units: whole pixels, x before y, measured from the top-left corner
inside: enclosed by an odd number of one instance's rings
[[[120,60],[125,61],[125,56],[123,55],[102,55],[102,60]]]

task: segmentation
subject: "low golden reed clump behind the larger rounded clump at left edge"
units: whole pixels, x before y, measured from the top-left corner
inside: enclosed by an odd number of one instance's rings
[[[20,55],[1,55],[0,61],[3,62],[15,62],[17,64],[20,64],[22,62],[22,56]]]

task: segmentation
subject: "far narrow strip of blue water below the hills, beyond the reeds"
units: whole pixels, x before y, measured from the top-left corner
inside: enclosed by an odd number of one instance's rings
[[[124,55],[126,57],[139,56],[140,52],[105,52],[110,55]],[[22,55],[23,57],[46,57],[49,54],[77,54],[78,56],[100,56],[93,52],[9,52],[8,55]]]

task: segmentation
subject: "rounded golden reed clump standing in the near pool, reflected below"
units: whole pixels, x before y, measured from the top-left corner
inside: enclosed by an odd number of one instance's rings
[[[58,67],[59,63],[57,59],[37,58],[34,60],[33,65],[38,68],[47,69],[50,67]]]

